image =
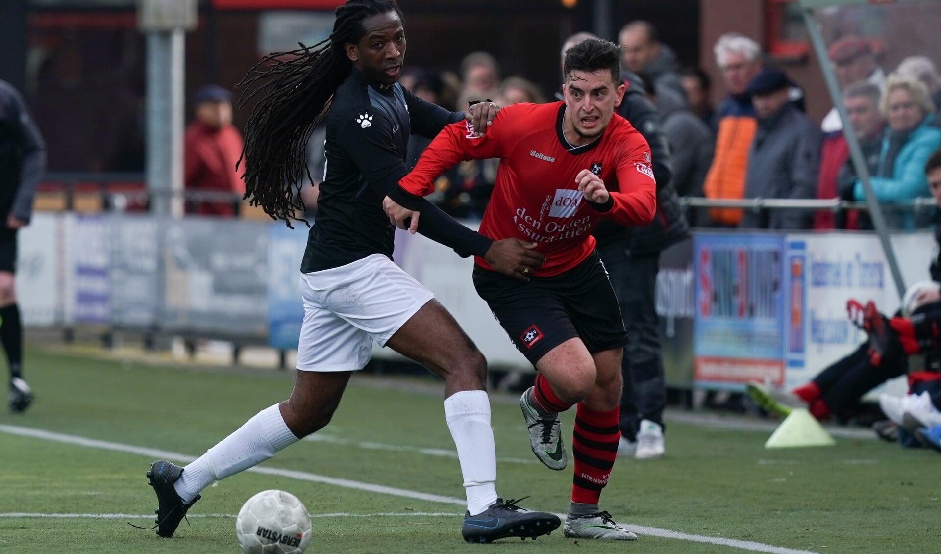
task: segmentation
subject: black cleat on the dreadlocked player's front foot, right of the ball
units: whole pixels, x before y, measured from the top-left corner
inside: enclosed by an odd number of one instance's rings
[[[492,543],[506,537],[519,537],[526,540],[531,537],[548,535],[559,529],[562,520],[558,515],[547,512],[529,512],[517,506],[519,500],[497,499],[486,511],[470,515],[464,514],[461,535],[469,543]]]

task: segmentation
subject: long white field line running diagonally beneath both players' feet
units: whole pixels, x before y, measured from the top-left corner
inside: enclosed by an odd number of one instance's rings
[[[84,436],[77,435],[64,435],[61,433],[53,433],[51,431],[44,431],[41,429],[33,429],[30,427],[21,427],[19,425],[3,425],[0,424],[0,433],[6,433],[8,435],[18,435],[18,436],[28,436],[31,438],[40,438],[43,440],[49,440],[53,442],[58,442],[62,444],[71,444],[75,446],[84,446],[88,448],[97,448],[106,451],[120,451],[127,452],[132,454],[138,454],[142,456],[147,456],[149,458],[167,458],[169,460],[177,460],[181,462],[188,462],[196,459],[196,456],[191,456],[187,454],[181,454],[178,452],[171,451],[161,451],[157,449],[150,449],[144,447],[136,447],[133,445],[121,444],[117,442],[110,442],[106,440],[98,440],[94,438],[87,438]],[[419,499],[419,500],[428,500],[431,502],[439,502],[442,504],[456,504],[459,506],[465,505],[464,499],[456,499],[455,497],[443,497],[439,495],[432,495],[428,493],[421,493],[415,491],[409,491],[401,488],[394,488],[391,486],[383,486],[373,483],[360,483],[358,481],[351,481],[347,479],[336,479],[333,477],[325,477],[323,475],[315,475],[313,473],[307,473],[305,471],[296,471],[294,469],[279,469],[276,467],[251,467],[247,471],[252,471],[254,473],[263,473],[265,475],[277,475],[279,477],[287,477],[289,479],[297,479],[300,481],[308,481],[311,483],[326,483],[340,486],[343,488],[351,488],[355,490],[375,492],[385,495],[392,495],[396,497],[402,497],[406,499]],[[565,517],[565,514],[558,514],[560,517]],[[148,517],[152,517],[148,515]],[[660,529],[657,527],[644,527],[639,525],[627,525],[631,530],[637,530],[641,534],[646,534],[655,537],[665,537],[670,539],[679,539],[682,541],[690,541],[694,543],[706,543],[710,545],[719,545],[719,546],[731,546],[734,548],[742,548],[743,550],[750,550],[752,552],[772,552],[773,554],[818,554],[810,550],[797,550],[794,548],[786,548],[784,546],[774,546],[774,545],[765,545],[763,543],[756,543],[753,541],[740,541],[737,539],[726,539],[722,537],[708,537],[704,535],[694,535],[689,533],[678,532],[675,530]]]

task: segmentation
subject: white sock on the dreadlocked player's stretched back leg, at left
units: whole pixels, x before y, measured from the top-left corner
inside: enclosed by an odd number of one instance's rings
[[[278,404],[269,406],[183,467],[183,475],[173,488],[183,502],[189,502],[214,481],[257,466],[297,440],[281,417]]]

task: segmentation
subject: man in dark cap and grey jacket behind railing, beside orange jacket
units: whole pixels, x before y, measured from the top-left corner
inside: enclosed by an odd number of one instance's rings
[[[789,101],[784,71],[765,68],[748,84],[758,130],[748,150],[744,198],[814,198],[820,134]],[[745,211],[743,229],[809,229],[812,214],[794,210]]]

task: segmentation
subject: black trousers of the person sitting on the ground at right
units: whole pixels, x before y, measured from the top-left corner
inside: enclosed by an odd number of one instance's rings
[[[821,389],[821,400],[837,419],[852,415],[859,399],[885,381],[908,372],[905,356],[884,358],[878,366],[869,361],[869,343],[864,342],[853,354],[840,358],[814,377]]]

